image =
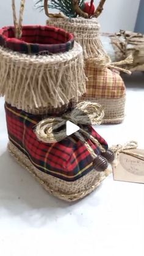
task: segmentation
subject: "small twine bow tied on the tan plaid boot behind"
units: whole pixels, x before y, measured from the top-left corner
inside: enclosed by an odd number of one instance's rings
[[[119,62],[112,62],[109,56],[105,57],[97,57],[97,58],[90,58],[88,62],[95,62],[98,68],[114,68],[118,71],[123,71],[124,73],[127,73],[131,75],[131,71],[127,70],[126,68],[122,68],[120,66],[132,64],[134,61],[134,57],[132,55],[129,55],[126,59],[121,60]]]

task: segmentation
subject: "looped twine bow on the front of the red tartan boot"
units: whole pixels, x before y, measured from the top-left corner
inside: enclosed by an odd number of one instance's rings
[[[96,144],[101,152],[106,152],[106,150],[101,144],[99,144],[95,137],[82,128],[82,125],[100,125],[103,117],[104,111],[100,104],[83,101],[77,104],[73,111],[63,114],[62,117],[49,117],[39,122],[35,128],[35,134],[40,141],[45,143],[56,143],[62,141],[67,137],[66,122],[67,120],[70,120],[80,126],[79,131],[74,133],[74,135],[85,144],[88,151],[91,153],[92,158],[95,159],[97,155],[85,140],[85,137],[89,138],[94,144]]]

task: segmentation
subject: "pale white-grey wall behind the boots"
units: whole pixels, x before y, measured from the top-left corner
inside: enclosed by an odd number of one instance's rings
[[[15,0],[16,5],[20,0]],[[87,0],[90,2],[90,0]],[[98,5],[99,0],[95,0]],[[120,29],[133,31],[140,0],[106,0],[103,14],[100,16],[103,32],[117,32]],[[46,16],[34,8],[34,0],[26,0],[24,24],[45,24]],[[11,0],[0,1],[0,26],[12,24]]]

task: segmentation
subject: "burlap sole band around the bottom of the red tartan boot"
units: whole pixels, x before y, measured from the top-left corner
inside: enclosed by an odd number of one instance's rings
[[[16,148],[12,142],[9,142],[8,148],[11,155],[15,157],[16,161],[27,169],[29,173],[32,174],[40,183],[40,185],[46,189],[46,191],[59,199],[69,202],[82,199],[90,194],[101,184],[104,178],[106,178],[112,172],[112,167],[109,166],[105,172],[97,172],[96,170],[92,170],[77,181],[63,181],[59,178],[45,174],[44,172],[40,172],[40,170],[35,168],[31,161],[29,161],[29,159],[23,153],[21,153],[21,151],[18,150],[18,148]]]

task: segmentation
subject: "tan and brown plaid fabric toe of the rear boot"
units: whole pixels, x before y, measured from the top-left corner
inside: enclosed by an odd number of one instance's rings
[[[109,68],[99,70],[92,64],[86,62],[85,73],[88,77],[87,94],[85,98],[121,98],[124,97],[126,89],[123,79],[117,71]]]

